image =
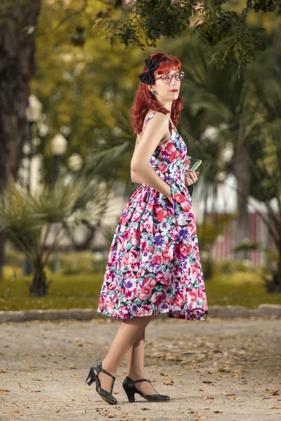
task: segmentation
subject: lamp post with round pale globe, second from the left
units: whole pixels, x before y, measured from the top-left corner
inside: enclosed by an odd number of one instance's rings
[[[50,142],[50,149],[51,154],[54,156],[55,159],[55,172],[54,172],[54,184],[58,180],[60,175],[61,166],[63,163],[63,156],[65,156],[65,152],[67,150],[67,140],[65,137],[58,133]],[[56,231],[56,230],[55,230]],[[56,235],[55,232],[55,247],[53,249],[53,262],[51,263],[51,269],[53,272],[58,272],[60,270],[60,262],[58,260],[58,243],[56,242]]]

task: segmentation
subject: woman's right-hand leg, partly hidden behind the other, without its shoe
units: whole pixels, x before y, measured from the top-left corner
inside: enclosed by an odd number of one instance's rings
[[[145,356],[145,329],[126,353],[127,375],[133,380],[146,379],[144,370]],[[136,388],[145,394],[157,394],[154,387],[149,382],[138,382]]]

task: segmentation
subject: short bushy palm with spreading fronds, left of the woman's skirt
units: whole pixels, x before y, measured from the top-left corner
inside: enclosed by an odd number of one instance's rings
[[[41,185],[35,192],[10,180],[0,201],[0,232],[5,229],[30,257],[34,269],[30,295],[47,295],[50,281],[44,268],[51,253],[70,229],[98,225],[111,188],[98,177],[81,174]]]

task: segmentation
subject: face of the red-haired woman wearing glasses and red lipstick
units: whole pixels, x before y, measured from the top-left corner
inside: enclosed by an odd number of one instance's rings
[[[171,69],[167,74],[174,75],[176,73],[178,73],[178,70]],[[154,72],[153,75],[155,76],[155,79],[160,76],[166,76],[166,74],[158,74],[157,71]],[[165,79],[166,78],[164,77],[164,81],[162,79],[155,80],[155,84],[149,86],[150,91],[155,90],[157,95],[159,95],[159,98],[162,98],[163,100],[176,100],[180,93],[181,80],[176,81],[175,77],[173,77],[171,81],[168,82]]]

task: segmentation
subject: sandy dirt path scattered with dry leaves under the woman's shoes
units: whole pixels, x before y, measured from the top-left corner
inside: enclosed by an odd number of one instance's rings
[[[171,401],[117,406],[84,382],[120,321],[0,324],[0,420],[281,420],[281,320],[157,319],[146,328],[146,376]],[[138,396],[138,397],[137,397]]]

